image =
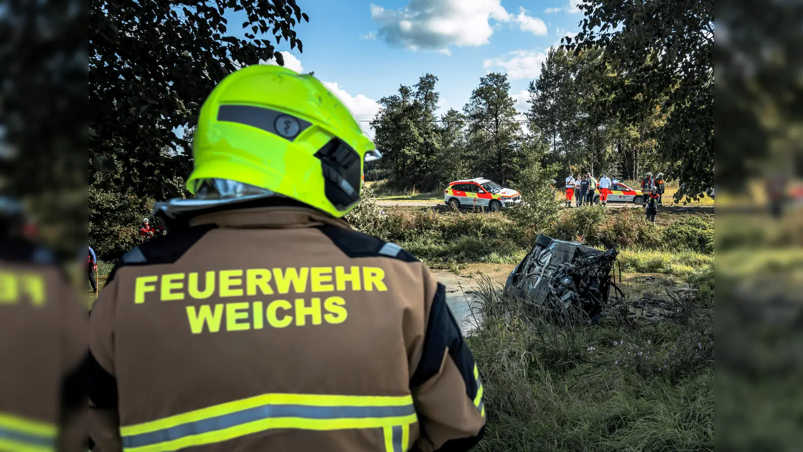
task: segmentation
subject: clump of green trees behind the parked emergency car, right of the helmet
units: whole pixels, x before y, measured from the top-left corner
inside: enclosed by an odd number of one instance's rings
[[[434,191],[478,175],[498,183],[515,180],[528,154],[507,76],[483,76],[462,112],[449,109],[439,118],[437,81],[425,74],[418,84],[381,98],[371,125],[385,157],[373,167],[399,190]]]

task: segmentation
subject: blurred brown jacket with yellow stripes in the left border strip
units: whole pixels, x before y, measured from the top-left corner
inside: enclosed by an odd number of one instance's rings
[[[87,314],[33,230],[0,196],[0,450],[82,450]]]

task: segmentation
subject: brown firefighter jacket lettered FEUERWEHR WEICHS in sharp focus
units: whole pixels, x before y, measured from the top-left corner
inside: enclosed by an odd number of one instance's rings
[[[485,425],[445,288],[311,208],[198,214],[90,316],[96,450],[468,450]]]

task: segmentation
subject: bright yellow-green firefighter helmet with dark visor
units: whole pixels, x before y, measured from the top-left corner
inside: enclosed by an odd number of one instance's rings
[[[226,76],[201,107],[187,188],[229,179],[342,217],[379,154],[349,109],[313,76],[255,65]]]

